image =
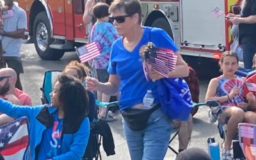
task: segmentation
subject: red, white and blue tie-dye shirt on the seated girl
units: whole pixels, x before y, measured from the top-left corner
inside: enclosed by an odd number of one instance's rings
[[[217,79],[219,80],[219,86],[217,88],[216,95],[218,97],[228,95],[232,88],[239,88],[239,95],[236,95],[230,100],[222,102],[221,106],[237,106],[238,104],[241,104],[241,102],[244,102],[244,98],[242,96],[244,77],[236,76],[235,79],[225,79],[224,76],[219,76]]]

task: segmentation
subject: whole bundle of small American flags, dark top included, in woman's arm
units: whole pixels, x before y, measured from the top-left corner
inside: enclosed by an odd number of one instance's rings
[[[168,77],[169,71],[175,70],[177,56],[170,49],[158,49],[149,42],[147,47],[140,51],[143,59],[143,71],[148,80],[150,70],[154,69],[164,77]]]

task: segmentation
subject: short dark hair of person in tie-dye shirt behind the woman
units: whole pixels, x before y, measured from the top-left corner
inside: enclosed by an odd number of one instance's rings
[[[95,6],[93,6],[93,15],[97,19],[102,19],[104,17],[107,17],[109,15],[108,13],[109,5],[106,3],[97,3]]]

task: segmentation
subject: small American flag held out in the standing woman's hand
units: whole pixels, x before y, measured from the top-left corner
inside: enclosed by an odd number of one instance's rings
[[[90,44],[77,48],[76,51],[81,63],[85,63],[100,55],[99,43],[97,41],[90,42]]]

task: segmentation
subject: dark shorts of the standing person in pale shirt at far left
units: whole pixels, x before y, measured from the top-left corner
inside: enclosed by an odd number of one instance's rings
[[[20,57],[3,56],[3,62],[7,63],[9,68],[13,68],[17,74],[24,73]]]

